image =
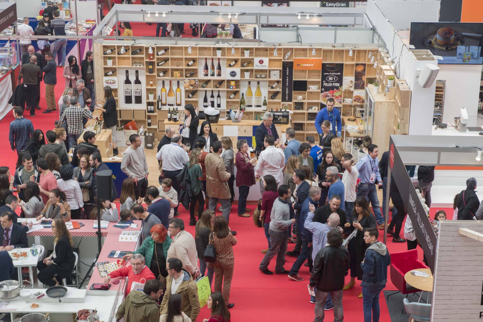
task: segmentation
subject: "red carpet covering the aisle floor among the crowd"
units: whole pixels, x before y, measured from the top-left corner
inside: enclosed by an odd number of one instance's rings
[[[62,69],[57,68],[58,84],[55,88],[56,99],[63,92]],[[45,110],[44,85],[41,86],[40,106]],[[56,119],[55,113],[42,114],[37,111],[37,115],[31,119],[35,129],[46,130],[52,129]],[[2,157],[0,165],[10,167],[12,174],[14,172],[16,153],[11,151],[8,143],[9,123],[13,120],[11,113],[7,114],[0,121],[0,137],[5,139],[0,143]],[[253,206],[252,206],[253,208]],[[183,207],[180,217],[187,224],[189,221],[189,213]],[[256,228],[252,218],[238,217],[237,206],[234,205],[231,211],[230,227],[236,230],[238,234],[238,244],[234,246],[235,252],[235,270],[231,287],[230,302],[235,303],[235,307],[231,309],[232,322],[245,321],[312,321],[314,305],[309,302],[310,297],[307,292],[307,284],[309,281],[308,268],[302,267],[300,276],[304,278],[302,282],[295,282],[287,278],[286,275],[265,275],[258,270],[258,265],[263,258],[260,252],[267,248],[267,240],[262,228]],[[451,219],[453,210],[444,209]],[[434,216],[436,209],[431,209],[431,215]],[[219,212],[217,212],[219,214]],[[404,227],[404,226],[403,226]],[[194,227],[187,226],[186,230],[194,235]],[[381,239],[382,240],[382,237]],[[292,250],[295,244],[289,244],[288,250]],[[393,243],[388,238],[387,246],[390,253],[406,250],[406,243]],[[421,249],[418,247],[419,257],[423,258]],[[294,263],[294,257],[286,257],[285,269],[290,270]],[[274,270],[275,259],[270,263],[270,270]],[[346,277],[346,282],[349,276]],[[396,290],[390,282],[388,273],[388,282],[386,290]],[[345,321],[359,322],[363,321],[362,315],[362,299],[357,298],[361,292],[360,282],[356,282],[356,286],[349,291],[345,291],[343,295],[343,307]],[[380,298],[381,319],[380,321],[390,321],[389,312],[383,296]],[[201,309],[198,321],[209,317],[209,311],[205,307]],[[333,320],[332,311],[327,311],[326,321]]]

